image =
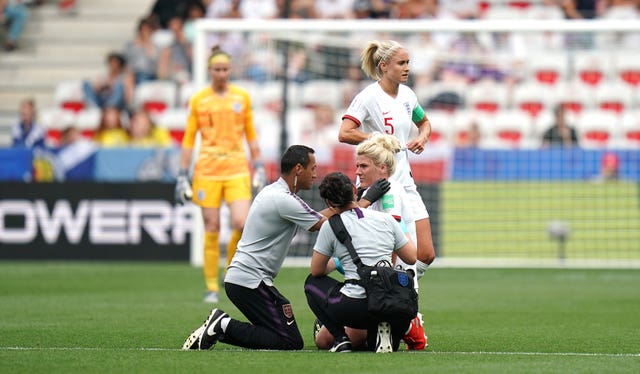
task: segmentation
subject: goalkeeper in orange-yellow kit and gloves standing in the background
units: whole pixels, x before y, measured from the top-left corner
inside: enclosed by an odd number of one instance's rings
[[[202,209],[204,220],[204,301],[218,302],[220,259],[220,206],[224,200],[231,213],[231,238],[227,244],[227,266],[235,254],[251,202],[251,187],[266,183],[249,93],[229,82],[231,59],[213,47],[208,70],[211,85],[189,100],[189,117],[182,139],[180,172],[176,183],[176,202],[192,200]],[[200,146],[189,183],[189,166],[196,134]],[[245,139],[253,161],[245,151]]]

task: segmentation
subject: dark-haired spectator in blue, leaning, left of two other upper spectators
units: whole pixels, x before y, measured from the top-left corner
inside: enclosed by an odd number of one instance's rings
[[[126,65],[122,54],[111,52],[107,55],[106,74],[93,82],[85,80],[82,83],[87,106],[101,109],[114,107],[120,110],[127,108],[133,95],[133,82],[127,79]]]

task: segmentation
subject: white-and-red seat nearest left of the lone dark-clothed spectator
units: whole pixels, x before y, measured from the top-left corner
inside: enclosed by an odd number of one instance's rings
[[[503,110],[495,117],[479,117],[478,124],[482,133],[481,148],[522,149],[537,145],[530,136],[531,117],[521,111]]]

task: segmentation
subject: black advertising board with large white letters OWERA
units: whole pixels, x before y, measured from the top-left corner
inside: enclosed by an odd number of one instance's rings
[[[167,183],[0,183],[0,259],[189,260]]]

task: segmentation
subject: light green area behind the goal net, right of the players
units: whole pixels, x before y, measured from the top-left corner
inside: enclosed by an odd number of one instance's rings
[[[640,259],[637,183],[446,182],[442,185],[446,256],[555,258],[552,220],[569,224],[568,259]]]

